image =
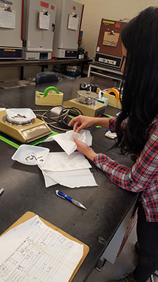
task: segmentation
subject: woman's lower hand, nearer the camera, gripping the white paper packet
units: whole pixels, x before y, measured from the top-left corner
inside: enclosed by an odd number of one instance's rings
[[[91,159],[91,161],[93,161],[93,159],[96,157],[96,152],[94,152],[91,147],[86,145],[86,143],[79,141],[77,138],[74,138],[74,142],[77,145],[77,150],[88,157],[88,159]]]

